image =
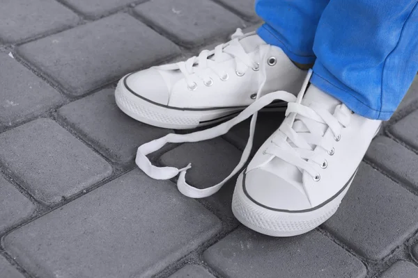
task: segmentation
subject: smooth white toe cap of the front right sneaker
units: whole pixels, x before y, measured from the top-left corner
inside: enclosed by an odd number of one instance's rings
[[[265,208],[284,211],[311,208],[309,199],[301,190],[261,168],[249,171],[242,186],[252,202]]]

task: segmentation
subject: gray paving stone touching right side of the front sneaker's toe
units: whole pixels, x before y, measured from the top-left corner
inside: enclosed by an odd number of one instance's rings
[[[362,163],[339,210],[323,226],[358,254],[382,259],[418,229],[418,197]]]

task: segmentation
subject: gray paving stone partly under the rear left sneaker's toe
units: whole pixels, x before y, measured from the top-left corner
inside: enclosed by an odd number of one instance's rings
[[[110,89],[65,105],[58,113],[86,140],[100,145],[104,155],[120,163],[133,161],[137,147],[170,132],[125,115],[116,106],[114,90]]]

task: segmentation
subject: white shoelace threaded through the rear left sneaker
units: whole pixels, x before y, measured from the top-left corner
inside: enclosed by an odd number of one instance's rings
[[[249,35],[254,35],[255,32],[244,35],[240,28],[231,36],[229,42],[219,44],[214,50],[203,50],[199,56],[194,56],[187,59],[185,62],[174,63],[170,65],[160,65],[157,68],[161,70],[180,70],[185,76],[187,86],[190,90],[196,88],[196,82],[192,79],[192,74],[195,74],[199,79],[203,80],[206,85],[212,85],[212,79],[208,74],[204,74],[205,69],[209,68],[214,72],[219,79],[226,81],[228,74],[219,68],[219,62],[222,61],[225,54],[228,54],[235,60],[235,69],[238,75],[244,75],[249,68],[258,70],[258,63],[245,51],[240,40]]]

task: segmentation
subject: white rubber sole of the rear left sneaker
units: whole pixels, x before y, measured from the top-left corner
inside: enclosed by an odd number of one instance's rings
[[[245,107],[213,108],[191,110],[185,108],[171,108],[148,101],[143,97],[134,95],[124,83],[125,78],[119,81],[115,90],[115,99],[118,107],[126,115],[164,129],[194,129],[199,126],[207,126],[238,115]],[[287,103],[279,101],[271,106],[266,106],[263,111],[285,111]]]

